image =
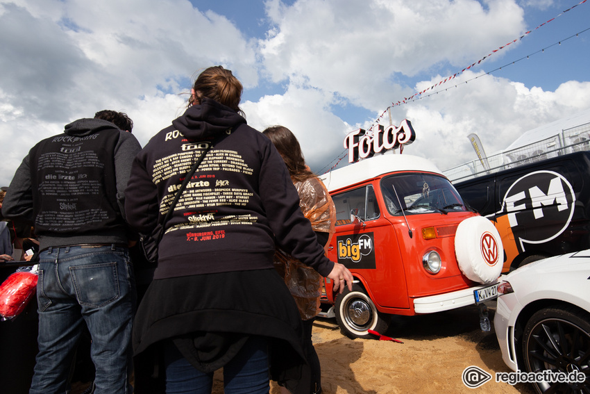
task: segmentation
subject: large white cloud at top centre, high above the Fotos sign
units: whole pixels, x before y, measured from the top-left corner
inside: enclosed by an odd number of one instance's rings
[[[435,65],[463,67],[524,29],[514,1],[301,0],[269,2],[275,28],[260,40],[274,81],[305,81],[338,92],[357,106],[379,110],[410,95],[399,76]]]

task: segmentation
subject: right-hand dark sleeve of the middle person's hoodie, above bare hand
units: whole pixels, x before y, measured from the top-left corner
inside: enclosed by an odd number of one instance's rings
[[[312,224],[299,208],[299,195],[283,158],[270,141],[262,156],[260,197],[279,247],[323,277],[328,276],[334,263],[324,256]]]

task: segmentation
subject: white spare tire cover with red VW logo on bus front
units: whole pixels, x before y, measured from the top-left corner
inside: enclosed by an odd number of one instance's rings
[[[504,263],[500,233],[483,216],[463,220],[455,233],[455,255],[461,272],[474,282],[491,284]]]

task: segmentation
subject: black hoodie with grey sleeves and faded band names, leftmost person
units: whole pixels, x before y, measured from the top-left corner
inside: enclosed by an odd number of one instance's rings
[[[35,226],[40,249],[80,244],[126,245],[124,190],[141,145],[99,119],[80,119],[24,158],[2,206],[6,217]]]

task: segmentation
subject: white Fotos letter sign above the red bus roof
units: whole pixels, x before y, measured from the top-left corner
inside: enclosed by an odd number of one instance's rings
[[[348,163],[355,163],[360,158],[368,158],[382,150],[397,149],[410,145],[416,139],[416,133],[409,120],[403,120],[399,127],[394,125],[384,128],[380,124],[372,135],[363,129],[348,133],[344,138],[344,148],[348,149]]]

